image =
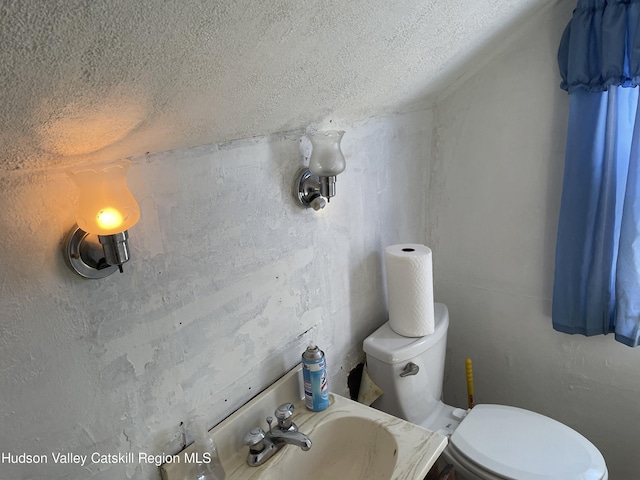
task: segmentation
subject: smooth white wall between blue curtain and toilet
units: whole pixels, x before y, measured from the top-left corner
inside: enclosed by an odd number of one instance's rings
[[[556,52],[574,2],[527,25],[434,109],[429,242],[436,299],[449,306],[446,400],[559,419],[603,452],[610,478],[638,478],[640,349],[551,327],[568,99]]]

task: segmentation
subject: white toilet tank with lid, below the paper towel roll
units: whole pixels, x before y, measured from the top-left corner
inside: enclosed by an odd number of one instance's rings
[[[449,311],[436,303],[434,314],[435,330],[430,335],[404,337],[386,322],[363,344],[369,375],[384,391],[372,407],[419,425],[437,410],[442,398]],[[409,363],[416,364],[418,372],[401,377]]]

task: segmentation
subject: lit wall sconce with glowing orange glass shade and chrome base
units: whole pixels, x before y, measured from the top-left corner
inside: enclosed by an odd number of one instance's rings
[[[131,162],[83,167],[68,172],[78,187],[77,225],[69,232],[65,260],[85,278],[104,278],[129,260],[127,230],[140,219],[140,209],[127,188]]]

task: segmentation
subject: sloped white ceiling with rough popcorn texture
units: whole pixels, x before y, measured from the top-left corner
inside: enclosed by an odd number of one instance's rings
[[[548,0],[0,0],[0,170],[427,101]]]

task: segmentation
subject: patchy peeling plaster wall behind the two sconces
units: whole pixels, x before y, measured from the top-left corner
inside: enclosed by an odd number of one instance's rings
[[[339,125],[347,170],[317,213],[291,198],[301,132],[134,158],[132,260],[98,281],[62,258],[75,201],[65,173],[3,175],[0,452],[50,463],[2,464],[0,476],[159,478],[137,461],[56,466],[51,453],[174,453],[180,422],[214,425],[310,340],[346,393],[385,320],[383,247],[424,241],[431,117]]]

